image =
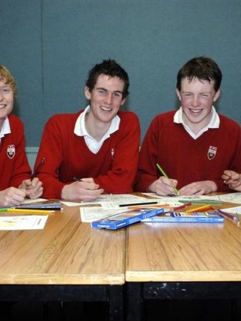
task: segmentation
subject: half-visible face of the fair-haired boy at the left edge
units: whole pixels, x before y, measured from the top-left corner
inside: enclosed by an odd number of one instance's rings
[[[0,127],[4,119],[13,110],[14,106],[14,92],[10,85],[5,84],[0,80]]]

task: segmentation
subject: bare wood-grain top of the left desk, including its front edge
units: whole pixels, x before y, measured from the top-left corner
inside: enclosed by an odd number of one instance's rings
[[[0,231],[0,258],[0,284],[123,284],[125,229],[91,229],[64,206],[43,230]]]

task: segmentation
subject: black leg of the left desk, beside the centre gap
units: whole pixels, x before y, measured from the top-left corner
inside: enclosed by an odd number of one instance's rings
[[[123,320],[123,286],[109,286],[109,321]]]

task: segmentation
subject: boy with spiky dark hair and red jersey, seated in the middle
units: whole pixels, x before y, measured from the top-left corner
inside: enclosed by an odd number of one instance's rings
[[[114,60],[104,60],[89,72],[89,106],[49,119],[35,163],[46,159],[38,174],[44,197],[90,201],[104,191],[133,191],[139,121],[133,112],[119,111],[128,86],[124,69]]]

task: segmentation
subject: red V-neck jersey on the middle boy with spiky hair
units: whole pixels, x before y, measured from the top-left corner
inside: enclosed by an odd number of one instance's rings
[[[36,167],[42,157],[46,159],[37,175],[43,183],[43,197],[59,199],[62,188],[72,183],[74,177],[92,177],[108,193],[132,192],[140,139],[137,116],[132,112],[119,112],[119,129],[93,153],[84,136],[74,134],[81,112],[55,115],[45,125],[35,163]]]

